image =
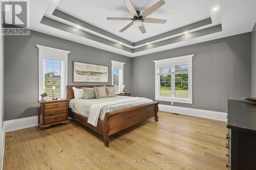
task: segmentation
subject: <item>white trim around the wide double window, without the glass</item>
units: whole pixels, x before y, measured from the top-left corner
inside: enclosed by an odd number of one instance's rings
[[[177,103],[187,103],[193,104],[193,91],[192,91],[192,58],[193,55],[181,56],[181,57],[174,57],[168,58],[163,60],[155,60],[155,100],[157,101],[167,101],[167,102],[177,102]],[[163,97],[160,96],[160,78],[158,76],[158,72],[160,67],[165,66],[174,66],[174,65],[185,65],[188,64],[188,99],[183,98],[175,98],[175,97]],[[172,82],[175,81],[175,78],[172,78]],[[172,88],[174,90],[174,88]]]

